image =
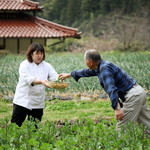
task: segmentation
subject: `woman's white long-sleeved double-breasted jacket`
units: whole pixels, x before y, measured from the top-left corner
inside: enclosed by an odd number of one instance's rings
[[[13,103],[28,109],[44,108],[45,86],[32,86],[35,80],[57,80],[58,74],[53,67],[42,61],[40,64],[24,60],[19,67],[19,82],[16,87]]]

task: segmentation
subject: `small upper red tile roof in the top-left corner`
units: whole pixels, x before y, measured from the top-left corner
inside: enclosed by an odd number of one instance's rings
[[[0,0],[0,10],[41,10],[43,6],[29,0]]]

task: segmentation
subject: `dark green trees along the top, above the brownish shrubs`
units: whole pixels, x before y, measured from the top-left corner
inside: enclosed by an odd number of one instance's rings
[[[44,18],[65,24],[73,25],[75,22],[81,24],[84,20],[90,20],[91,13],[94,16],[110,13],[122,13],[123,15],[135,14],[144,15],[149,8],[147,0],[35,0],[45,6]]]

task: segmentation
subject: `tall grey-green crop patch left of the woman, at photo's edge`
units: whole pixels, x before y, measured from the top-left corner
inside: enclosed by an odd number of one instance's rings
[[[0,58],[0,93],[12,95],[18,82],[18,68],[24,56],[1,56]],[[11,61],[11,62],[10,62]],[[7,86],[9,85],[9,86]]]

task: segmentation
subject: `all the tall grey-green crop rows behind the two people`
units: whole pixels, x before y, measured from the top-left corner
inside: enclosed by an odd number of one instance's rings
[[[150,90],[150,78],[148,76],[150,74],[149,52],[105,52],[101,53],[101,55],[103,59],[117,64],[129,75],[134,77],[140,85]],[[0,59],[1,94],[12,95],[15,92],[18,82],[18,67],[23,59],[24,56],[15,55],[7,55]],[[52,64],[58,73],[69,73],[73,70],[86,68],[83,60],[83,53],[47,54],[46,61]],[[67,92],[91,92],[102,89],[96,77],[81,78],[79,83],[69,78],[66,82],[69,83],[69,87],[65,89]],[[51,89],[47,90],[52,91]]]

